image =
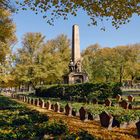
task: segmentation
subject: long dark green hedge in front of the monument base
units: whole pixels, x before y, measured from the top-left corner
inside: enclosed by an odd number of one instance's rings
[[[106,99],[110,96],[122,94],[118,83],[84,83],[60,84],[36,87],[35,95],[38,97],[51,97],[69,100],[70,98],[98,98]]]

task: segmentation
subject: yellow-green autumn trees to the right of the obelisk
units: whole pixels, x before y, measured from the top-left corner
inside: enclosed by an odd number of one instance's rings
[[[90,81],[136,80],[140,77],[140,44],[101,48],[98,44],[83,52],[83,66]]]

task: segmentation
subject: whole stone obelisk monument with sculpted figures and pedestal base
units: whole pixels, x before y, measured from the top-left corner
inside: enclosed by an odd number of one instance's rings
[[[80,38],[79,38],[79,27],[73,25],[72,28],[72,53],[71,60],[69,63],[69,73],[64,76],[64,83],[75,84],[85,83],[88,81],[88,76],[81,69],[81,54],[80,54]]]

